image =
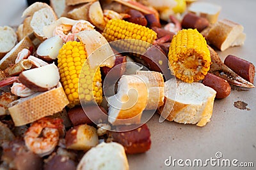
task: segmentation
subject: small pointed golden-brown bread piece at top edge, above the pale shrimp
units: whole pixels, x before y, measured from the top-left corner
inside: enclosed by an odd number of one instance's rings
[[[86,3],[83,4],[83,6],[79,6],[73,10],[68,11],[67,17],[74,20],[89,20],[88,13],[91,4],[92,3]]]

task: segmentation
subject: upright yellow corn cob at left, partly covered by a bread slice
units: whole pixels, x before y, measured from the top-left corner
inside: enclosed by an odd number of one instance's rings
[[[100,68],[96,71],[90,69],[86,59],[84,45],[77,41],[68,41],[58,54],[60,81],[70,102],[70,108],[79,105],[80,100],[92,102],[93,97],[98,104],[102,101]]]

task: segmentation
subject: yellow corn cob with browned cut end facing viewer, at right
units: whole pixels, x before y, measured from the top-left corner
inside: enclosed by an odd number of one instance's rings
[[[173,36],[168,58],[171,71],[188,83],[204,79],[211,65],[207,43],[196,29],[182,29]]]

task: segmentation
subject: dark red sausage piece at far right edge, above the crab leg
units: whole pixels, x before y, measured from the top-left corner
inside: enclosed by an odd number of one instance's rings
[[[230,69],[232,69],[245,80],[253,83],[255,76],[255,66],[251,62],[240,59],[234,55],[228,55],[224,60],[224,64],[230,67]]]

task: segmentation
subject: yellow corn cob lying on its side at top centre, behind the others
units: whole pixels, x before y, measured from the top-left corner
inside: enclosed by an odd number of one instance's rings
[[[147,50],[148,46],[156,39],[156,32],[148,27],[133,24],[125,20],[111,19],[108,21],[102,35],[109,41],[129,39],[114,44],[126,52],[140,52]],[[113,44],[112,44],[113,45]]]

